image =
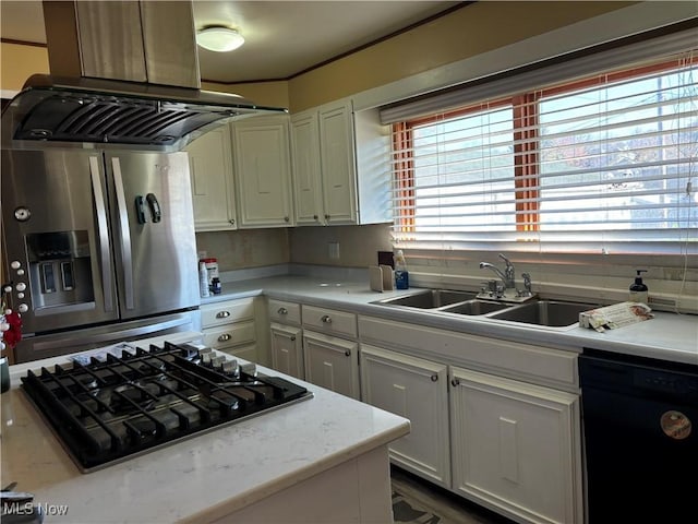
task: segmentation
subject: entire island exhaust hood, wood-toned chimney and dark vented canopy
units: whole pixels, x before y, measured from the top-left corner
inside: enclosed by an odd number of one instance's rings
[[[202,91],[191,2],[48,1],[50,75],[2,115],[3,147],[178,151],[216,123],[284,108]]]

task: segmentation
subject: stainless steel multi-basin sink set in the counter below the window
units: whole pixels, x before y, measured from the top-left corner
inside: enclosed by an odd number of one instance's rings
[[[434,312],[477,315],[525,324],[550,327],[567,327],[579,321],[579,313],[598,305],[542,300],[531,298],[526,302],[512,303],[477,298],[474,293],[449,289],[429,289],[410,295],[386,298],[373,303]]]

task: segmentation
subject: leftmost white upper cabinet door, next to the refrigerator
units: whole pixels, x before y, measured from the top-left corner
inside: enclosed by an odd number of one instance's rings
[[[236,229],[230,131],[227,126],[202,134],[185,148],[192,181],[196,231]]]

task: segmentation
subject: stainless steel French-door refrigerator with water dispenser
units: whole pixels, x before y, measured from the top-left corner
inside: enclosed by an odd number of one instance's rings
[[[185,153],[2,151],[19,362],[200,329]]]

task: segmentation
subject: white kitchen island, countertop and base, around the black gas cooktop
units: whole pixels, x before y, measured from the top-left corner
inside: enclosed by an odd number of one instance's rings
[[[313,398],[83,474],[20,389],[65,359],[12,366],[1,395],[1,485],[34,493],[47,523],[393,522],[387,444],[409,432],[402,417],[292,379]]]

